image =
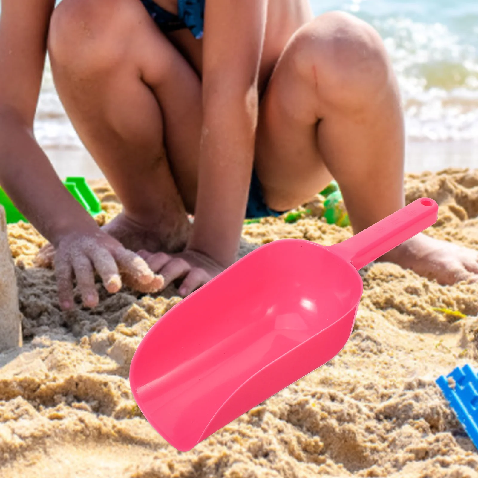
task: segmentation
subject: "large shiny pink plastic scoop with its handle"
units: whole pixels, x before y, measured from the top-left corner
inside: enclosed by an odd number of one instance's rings
[[[357,272],[437,219],[417,199],[331,247],[303,239],[261,246],[176,304],[131,361],[141,412],[180,451],[332,359],[363,292]]]

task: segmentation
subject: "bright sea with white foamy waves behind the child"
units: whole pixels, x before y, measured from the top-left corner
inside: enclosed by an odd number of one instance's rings
[[[380,33],[401,89],[407,172],[478,168],[477,0],[312,0],[311,4],[316,15],[347,11]],[[65,114],[48,59],[34,132],[60,177],[102,177]]]

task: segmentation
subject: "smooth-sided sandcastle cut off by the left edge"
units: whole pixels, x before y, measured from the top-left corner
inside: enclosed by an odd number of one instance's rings
[[[0,206],[0,352],[14,347],[22,347],[22,314],[18,307],[5,209]]]

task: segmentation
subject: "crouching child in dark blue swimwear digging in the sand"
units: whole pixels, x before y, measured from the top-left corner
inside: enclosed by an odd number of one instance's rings
[[[332,177],[355,233],[404,206],[397,81],[368,24],[306,0],[2,0],[0,183],[53,244],[60,304],[106,288],[187,295],[236,260],[244,217]],[[32,134],[48,48],[55,86],[124,212],[100,229]],[[377,200],[377,198],[380,198]],[[187,213],[195,215],[191,226]],[[131,251],[139,252],[146,263]],[[423,234],[381,258],[441,283],[478,252]]]

